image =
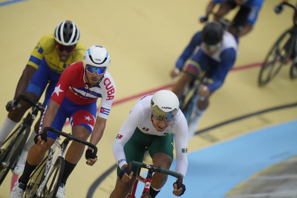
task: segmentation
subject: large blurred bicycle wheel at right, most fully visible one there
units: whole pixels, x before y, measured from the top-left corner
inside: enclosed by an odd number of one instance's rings
[[[293,30],[289,29],[275,42],[262,63],[258,78],[259,86],[264,86],[271,81],[282,66],[289,61],[295,39]]]

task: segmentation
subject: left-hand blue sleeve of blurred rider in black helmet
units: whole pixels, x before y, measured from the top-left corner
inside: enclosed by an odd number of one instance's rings
[[[197,32],[191,39],[183,54],[176,61],[175,67],[182,70],[187,59],[193,54],[195,48],[201,44],[201,32]]]

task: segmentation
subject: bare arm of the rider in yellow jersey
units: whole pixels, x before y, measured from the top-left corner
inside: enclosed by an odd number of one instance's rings
[[[15,90],[15,96],[14,100],[20,95],[23,94],[26,88],[28,87],[28,84],[32,78],[32,75],[35,73],[36,68],[34,68],[31,65],[26,65],[20,79],[18,82],[18,85]]]

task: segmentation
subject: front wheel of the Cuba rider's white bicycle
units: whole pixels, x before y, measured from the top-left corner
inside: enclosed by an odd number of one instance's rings
[[[49,179],[43,187],[41,197],[44,198],[55,198],[58,192],[59,185],[61,183],[62,174],[64,171],[65,159],[61,156],[57,158],[53,169],[50,171],[48,177]]]

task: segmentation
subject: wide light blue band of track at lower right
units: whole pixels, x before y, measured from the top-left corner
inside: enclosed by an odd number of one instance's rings
[[[240,182],[275,163],[297,155],[297,120],[256,130],[236,139],[188,153],[184,184],[186,198],[220,198]],[[175,170],[176,159],[171,170]],[[144,175],[143,175],[144,176]],[[168,177],[159,197],[172,194],[173,177]],[[142,191],[139,184],[137,196]]]

